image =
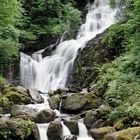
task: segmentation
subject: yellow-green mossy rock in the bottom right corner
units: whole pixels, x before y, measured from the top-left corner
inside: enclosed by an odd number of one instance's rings
[[[104,140],[138,140],[140,139],[140,127],[128,128],[105,136]]]

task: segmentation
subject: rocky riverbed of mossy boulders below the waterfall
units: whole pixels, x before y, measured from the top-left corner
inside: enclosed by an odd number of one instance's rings
[[[140,119],[124,118],[112,123],[108,114],[112,107],[100,99],[94,90],[74,92],[70,89],[50,91],[50,109],[38,110],[29,105],[43,104],[42,94],[21,86],[6,85],[0,94],[0,139],[40,140],[38,124],[48,123],[48,140],[63,140],[63,124],[73,135],[67,140],[76,140],[78,123],[83,123],[94,140],[128,140],[139,138]],[[34,95],[34,96],[33,96]],[[61,111],[61,114],[56,112]],[[69,115],[63,115],[68,113]]]

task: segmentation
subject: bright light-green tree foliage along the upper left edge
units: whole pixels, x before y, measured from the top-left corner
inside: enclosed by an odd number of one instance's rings
[[[18,34],[15,24],[21,17],[17,0],[0,0],[0,65],[9,65],[18,56]]]

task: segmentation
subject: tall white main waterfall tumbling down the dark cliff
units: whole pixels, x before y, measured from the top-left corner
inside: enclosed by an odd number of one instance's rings
[[[76,39],[61,42],[51,56],[42,58],[41,54],[35,54],[32,58],[21,53],[22,85],[42,92],[65,88],[78,50],[114,23],[117,9],[111,9],[108,2],[109,0],[95,0]]]

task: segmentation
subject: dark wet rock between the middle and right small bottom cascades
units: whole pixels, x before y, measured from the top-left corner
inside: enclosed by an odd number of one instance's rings
[[[78,122],[76,120],[64,120],[64,124],[69,128],[71,134],[78,135],[79,134],[79,128],[78,128]]]

